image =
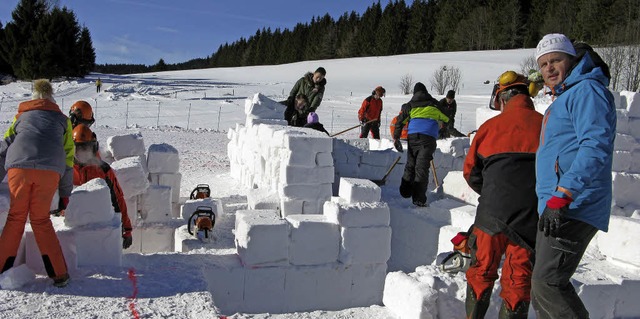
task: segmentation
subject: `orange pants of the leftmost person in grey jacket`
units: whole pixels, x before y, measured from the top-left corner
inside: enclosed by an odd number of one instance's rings
[[[28,216],[47,275],[56,278],[66,274],[67,264],[49,218],[60,174],[49,170],[11,168],[7,175],[11,203],[7,223],[0,236],[0,272],[13,267]]]

